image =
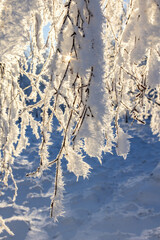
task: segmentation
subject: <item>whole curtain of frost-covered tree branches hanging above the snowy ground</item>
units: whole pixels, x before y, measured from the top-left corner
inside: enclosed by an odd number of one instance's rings
[[[128,119],[144,125],[150,118],[160,138],[160,0],[5,0],[0,7],[1,182],[12,180],[15,201],[12,167],[29,146],[31,127],[41,143],[39,167],[27,176],[56,165],[51,216],[57,221],[64,214],[64,158],[77,179],[90,174],[86,155],[103,163],[102,154],[116,148],[126,159],[131,136],[122,121]],[[49,153],[54,119],[62,134],[55,158]]]

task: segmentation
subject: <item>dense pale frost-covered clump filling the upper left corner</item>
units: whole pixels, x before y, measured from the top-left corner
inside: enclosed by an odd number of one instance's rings
[[[5,0],[0,11],[0,62],[19,58],[29,45],[29,30],[37,10],[42,13],[45,3],[41,0]],[[42,48],[42,18],[36,13],[36,40],[38,48]]]

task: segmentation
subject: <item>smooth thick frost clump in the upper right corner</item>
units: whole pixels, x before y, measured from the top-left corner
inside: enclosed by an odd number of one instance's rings
[[[132,63],[139,61],[148,48],[159,43],[160,10],[157,4],[154,0],[133,1],[128,25],[122,35],[124,49],[131,53]]]

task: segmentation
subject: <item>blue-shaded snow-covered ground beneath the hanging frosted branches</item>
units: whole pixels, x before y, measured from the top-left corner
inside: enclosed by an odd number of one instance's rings
[[[128,125],[125,126],[127,128]],[[133,124],[134,138],[126,160],[105,154],[103,164],[87,159],[93,167],[87,180],[67,172],[64,160],[65,217],[50,218],[55,167],[42,178],[26,178],[38,166],[38,145],[17,158],[14,175],[18,196],[12,203],[13,185],[0,196],[0,215],[14,232],[5,230],[0,240],[159,240],[160,239],[160,142],[148,125]],[[56,134],[56,132],[55,132]],[[60,146],[53,140],[51,156]]]

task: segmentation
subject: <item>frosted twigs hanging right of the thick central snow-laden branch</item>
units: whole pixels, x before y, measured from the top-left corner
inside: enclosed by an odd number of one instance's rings
[[[160,1],[130,1],[127,14],[120,17],[123,27],[119,29],[114,14],[110,17],[114,12],[111,2],[107,2],[105,8],[106,35],[109,31],[113,36],[106,37],[105,46],[106,83],[113,105],[111,113],[117,111],[126,121],[130,116],[145,124],[144,119],[150,114],[155,119],[159,115]],[[157,122],[153,124],[152,120],[151,128],[154,134],[159,134]]]

